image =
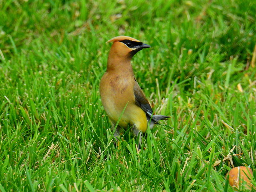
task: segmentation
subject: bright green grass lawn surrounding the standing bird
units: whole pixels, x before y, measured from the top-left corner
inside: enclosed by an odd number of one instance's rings
[[[0,190],[232,192],[232,166],[255,185],[255,12],[250,0],[0,1]],[[99,96],[118,35],[152,46],[134,73],[171,116],[140,153],[129,134],[115,146]]]

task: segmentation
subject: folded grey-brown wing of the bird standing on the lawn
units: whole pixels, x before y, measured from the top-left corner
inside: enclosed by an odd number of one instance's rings
[[[135,84],[134,84],[133,92],[134,92],[134,96],[135,96],[135,103],[138,106],[140,106],[143,109],[143,111],[145,111],[145,113],[150,118],[152,118],[156,123],[158,123],[158,120],[153,115],[153,110],[152,110],[151,106],[149,105],[144,92],[141,90],[140,85],[137,83],[135,78],[134,78],[134,80],[135,80]]]

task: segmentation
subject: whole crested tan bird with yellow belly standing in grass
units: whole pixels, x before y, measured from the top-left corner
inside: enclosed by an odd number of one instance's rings
[[[101,102],[111,121],[112,129],[116,127],[116,141],[121,127],[131,128],[136,137],[140,136],[140,148],[142,133],[146,132],[148,125],[152,129],[155,124],[159,124],[159,120],[170,117],[153,114],[133,74],[132,57],[150,45],[129,36],[117,36],[107,41],[109,42],[113,44],[108,54],[107,70],[100,80]]]

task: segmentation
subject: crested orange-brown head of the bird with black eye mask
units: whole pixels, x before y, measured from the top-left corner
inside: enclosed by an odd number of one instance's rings
[[[113,42],[110,52],[117,57],[132,58],[141,49],[149,48],[150,45],[128,36],[117,36],[108,42]]]

